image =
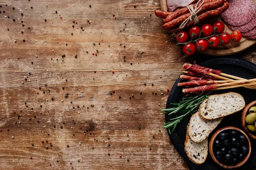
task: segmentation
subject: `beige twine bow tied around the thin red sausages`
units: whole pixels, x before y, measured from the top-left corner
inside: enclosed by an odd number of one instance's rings
[[[201,2],[201,4],[198,6],[198,4]],[[186,26],[186,24],[191,21],[191,20],[194,20],[195,21],[195,24],[199,23],[199,20],[198,20],[198,16],[197,16],[197,13],[198,11],[201,10],[201,6],[204,4],[204,0],[198,0],[198,2],[196,3],[195,5],[195,9],[193,8],[193,4],[187,6],[187,8],[189,9],[189,12],[191,13],[190,16],[183,21],[183,23],[180,24],[180,28],[184,28]]]

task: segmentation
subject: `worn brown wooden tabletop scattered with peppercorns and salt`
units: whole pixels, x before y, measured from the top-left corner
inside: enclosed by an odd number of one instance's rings
[[[1,170],[188,169],[160,109],[183,63],[211,57],[175,46],[154,16],[159,0],[7,2],[0,0]],[[256,63],[254,51],[236,56]]]

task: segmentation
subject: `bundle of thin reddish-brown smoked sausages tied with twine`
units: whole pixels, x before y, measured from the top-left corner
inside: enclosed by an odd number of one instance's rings
[[[195,8],[196,4],[193,4],[192,6]],[[200,6],[200,9],[197,12],[197,16],[199,22],[201,22],[209,17],[215,17],[222,14],[229,7],[229,3],[227,0],[204,0],[199,1],[198,6]],[[183,28],[180,28],[180,25],[191,15],[187,7],[177,9],[173,12],[155,10],[155,15],[163,18],[163,28],[171,32],[177,32],[195,25],[194,20],[189,20]]]

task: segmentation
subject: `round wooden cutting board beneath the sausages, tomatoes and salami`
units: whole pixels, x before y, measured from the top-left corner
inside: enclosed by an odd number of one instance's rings
[[[256,2],[256,0],[254,0],[254,2]],[[161,5],[162,11],[167,11],[166,0],[160,0],[160,5]],[[214,17],[211,20],[207,20],[207,23],[213,24],[218,20],[222,21],[221,17]],[[232,30],[230,30],[230,28],[228,28],[227,26],[226,28],[227,28],[227,32],[232,32]],[[207,55],[224,56],[224,55],[236,54],[241,51],[244,51],[245,49],[249,48],[255,43],[256,43],[256,40],[249,40],[245,37],[242,37],[242,39],[239,42],[231,42],[229,44],[219,45],[217,48],[214,48],[214,49],[209,48],[206,51],[200,51],[200,52]]]

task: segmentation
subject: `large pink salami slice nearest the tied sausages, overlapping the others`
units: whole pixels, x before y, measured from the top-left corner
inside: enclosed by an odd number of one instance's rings
[[[222,19],[232,26],[242,26],[253,19],[256,6],[253,0],[228,0],[230,7],[221,14]]]

